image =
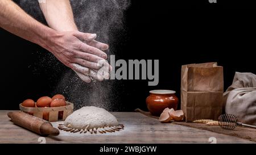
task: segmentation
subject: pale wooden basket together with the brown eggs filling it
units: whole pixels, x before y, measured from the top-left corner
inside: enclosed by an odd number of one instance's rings
[[[36,102],[32,99],[26,99],[19,104],[21,111],[37,118],[56,122],[65,120],[73,112],[74,104],[65,100],[61,94],[50,97],[41,97]]]

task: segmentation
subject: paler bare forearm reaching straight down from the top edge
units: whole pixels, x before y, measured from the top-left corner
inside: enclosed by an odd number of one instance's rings
[[[46,0],[39,5],[49,27],[57,31],[77,31],[69,0]]]

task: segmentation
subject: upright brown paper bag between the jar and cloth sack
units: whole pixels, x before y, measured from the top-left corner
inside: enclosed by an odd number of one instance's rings
[[[216,62],[181,67],[181,109],[186,122],[217,120],[223,107],[223,68]]]

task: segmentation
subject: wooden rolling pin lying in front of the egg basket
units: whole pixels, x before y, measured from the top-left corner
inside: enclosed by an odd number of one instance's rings
[[[28,115],[21,111],[9,112],[8,117],[14,124],[17,124],[23,128],[29,129],[41,136],[57,136],[60,131],[52,127],[52,124],[46,120],[36,118],[35,116]]]

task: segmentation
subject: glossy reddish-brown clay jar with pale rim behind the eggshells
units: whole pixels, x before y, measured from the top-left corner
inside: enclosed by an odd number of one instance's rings
[[[179,99],[172,90],[151,90],[146,99],[148,111],[154,116],[160,116],[165,108],[177,110]]]

